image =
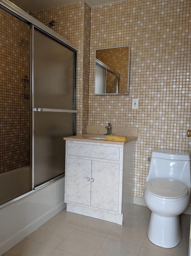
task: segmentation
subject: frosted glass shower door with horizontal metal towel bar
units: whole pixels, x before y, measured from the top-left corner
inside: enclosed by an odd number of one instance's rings
[[[64,174],[66,136],[75,134],[76,51],[33,30],[33,187]]]

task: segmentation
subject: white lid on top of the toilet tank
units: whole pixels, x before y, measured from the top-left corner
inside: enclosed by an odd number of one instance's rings
[[[184,151],[157,150],[152,152],[151,157],[169,160],[190,161],[190,153]]]

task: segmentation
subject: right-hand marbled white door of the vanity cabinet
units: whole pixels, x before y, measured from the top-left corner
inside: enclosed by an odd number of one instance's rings
[[[119,164],[92,161],[91,206],[118,212]]]

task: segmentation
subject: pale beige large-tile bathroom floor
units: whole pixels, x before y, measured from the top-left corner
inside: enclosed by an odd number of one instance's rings
[[[190,215],[180,217],[182,240],[172,249],[147,237],[150,210],[133,205],[123,225],[62,210],[4,256],[187,256]]]

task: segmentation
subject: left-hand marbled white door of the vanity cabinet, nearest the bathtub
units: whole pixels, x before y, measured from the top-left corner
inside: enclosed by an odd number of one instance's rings
[[[91,160],[67,157],[66,202],[90,205],[90,175]]]

